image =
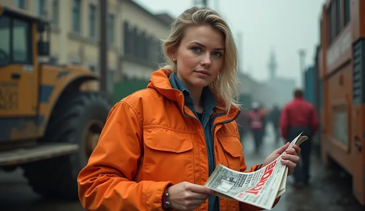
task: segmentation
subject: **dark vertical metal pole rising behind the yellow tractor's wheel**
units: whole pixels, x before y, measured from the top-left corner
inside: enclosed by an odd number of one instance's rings
[[[108,93],[108,46],[107,46],[107,12],[108,1],[99,0],[100,3],[100,51],[99,51],[99,67],[100,67],[100,91],[109,100]]]

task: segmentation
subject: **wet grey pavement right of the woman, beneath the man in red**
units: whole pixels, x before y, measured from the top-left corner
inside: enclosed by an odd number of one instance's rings
[[[263,146],[259,154],[254,153],[250,134],[243,137],[243,154],[248,167],[262,163],[284,142],[274,142],[272,128],[268,127]],[[272,211],[365,211],[351,192],[351,177],[343,170],[326,168],[312,155],[310,166],[310,185],[303,189],[291,186],[292,176],[288,177],[286,192]]]

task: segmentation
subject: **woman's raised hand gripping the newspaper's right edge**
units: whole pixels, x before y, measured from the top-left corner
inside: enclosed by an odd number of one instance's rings
[[[275,150],[271,155],[269,155],[263,162],[262,167],[270,164],[276,158],[278,158],[282,153],[286,152],[287,154],[281,158],[281,163],[289,166],[288,176],[291,175],[297,166],[299,161],[299,154],[301,152],[301,148],[297,145],[294,145],[292,149],[288,149],[290,143],[286,143],[284,146]],[[261,168],[262,168],[261,167]]]

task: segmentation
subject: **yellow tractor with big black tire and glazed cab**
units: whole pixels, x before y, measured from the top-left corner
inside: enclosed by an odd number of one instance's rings
[[[76,199],[111,106],[91,71],[40,62],[49,38],[49,23],[0,5],[0,169],[21,167],[38,194]]]

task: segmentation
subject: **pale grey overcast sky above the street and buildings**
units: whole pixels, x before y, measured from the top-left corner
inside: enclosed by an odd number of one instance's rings
[[[193,0],[135,0],[152,12],[166,11],[178,16],[192,6]],[[209,6],[221,12],[237,36],[243,33],[245,71],[257,80],[268,77],[270,50],[277,57],[277,75],[297,80],[302,86],[298,50],[306,50],[306,65],[312,65],[319,42],[319,18],[325,0],[208,0]],[[237,38],[236,38],[237,39]]]

